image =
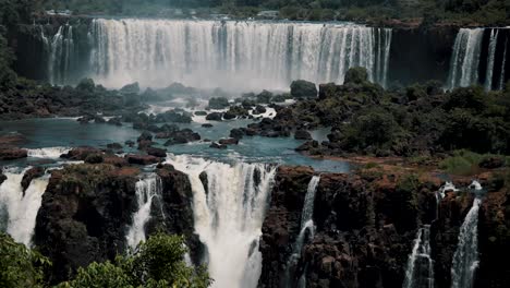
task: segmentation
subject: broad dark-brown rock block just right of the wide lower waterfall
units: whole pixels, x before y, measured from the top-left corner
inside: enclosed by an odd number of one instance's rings
[[[300,230],[313,170],[280,167],[263,226],[260,287],[280,287]],[[400,287],[417,225],[435,214],[436,182],[387,172],[323,173],[315,197],[313,240],[294,278],[307,287]]]

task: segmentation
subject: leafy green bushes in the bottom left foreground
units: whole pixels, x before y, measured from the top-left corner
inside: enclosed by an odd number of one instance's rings
[[[80,268],[76,276],[58,288],[117,287],[193,287],[211,284],[205,267],[189,267],[184,263],[187,249],[179,236],[156,233],[114,263],[92,263]],[[45,268],[51,263],[35,250],[16,243],[0,233],[0,287],[48,287]]]

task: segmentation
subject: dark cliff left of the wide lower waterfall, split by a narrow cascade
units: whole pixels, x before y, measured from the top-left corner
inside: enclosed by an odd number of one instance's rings
[[[139,175],[135,167],[108,164],[84,164],[52,172],[37,215],[35,244],[53,262],[53,283],[68,279],[94,261],[112,261],[126,250],[127,228],[138,208],[135,187]],[[190,249],[199,252],[199,241],[193,235],[187,177],[167,166],[157,175],[162,184],[161,200],[153,202],[146,232],[162,229],[184,235]]]

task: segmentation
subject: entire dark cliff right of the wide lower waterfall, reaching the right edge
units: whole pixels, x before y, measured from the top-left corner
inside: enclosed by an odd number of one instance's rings
[[[303,188],[312,173],[302,167],[278,171],[263,226],[260,287],[282,285],[299,233]],[[458,183],[469,184],[465,180]],[[438,179],[401,172],[323,173],[315,197],[315,237],[303,245],[290,287],[296,287],[301,275],[306,287],[401,287],[421,224],[432,224],[436,287],[450,287],[459,229],[474,196],[449,192],[436,206],[439,185]],[[494,181],[485,179],[483,185],[494,187]],[[495,264],[495,260],[509,251],[502,244],[508,240],[507,194],[500,187],[493,189],[483,203],[476,287],[503,287],[510,265]]]

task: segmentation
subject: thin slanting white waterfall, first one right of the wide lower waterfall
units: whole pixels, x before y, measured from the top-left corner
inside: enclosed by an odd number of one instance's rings
[[[295,275],[295,266],[298,261],[301,259],[301,250],[303,250],[303,244],[305,241],[306,233],[309,233],[309,239],[312,239],[315,235],[315,226],[314,226],[314,203],[315,203],[315,192],[317,191],[317,185],[320,181],[320,176],[312,177],[309,180],[308,188],[306,190],[305,200],[303,203],[303,212],[301,213],[301,226],[300,226],[300,233],[292,245],[292,254],[290,255],[289,260],[287,261],[286,265],[286,274],[283,276],[283,286],[284,287],[292,287],[292,283],[294,280]],[[306,277],[303,273],[301,275],[300,280],[298,283],[306,283]],[[301,284],[303,286],[304,284]]]

